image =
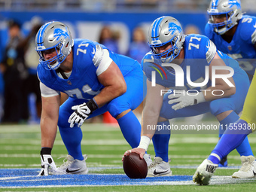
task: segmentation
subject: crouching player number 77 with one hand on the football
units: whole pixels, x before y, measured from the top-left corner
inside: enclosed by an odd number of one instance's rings
[[[124,156],[136,152],[143,157],[152,139],[156,157],[149,166],[148,176],[171,175],[170,129],[157,130],[155,134],[155,127],[168,127],[172,118],[210,111],[221,129],[239,119],[249,80],[235,59],[217,50],[204,35],[184,35],[181,24],[173,17],[154,20],[148,32],[148,44],[151,52],[142,60],[147,76],[143,133],[138,148],[126,151]],[[253,155],[251,149],[245,153]]]

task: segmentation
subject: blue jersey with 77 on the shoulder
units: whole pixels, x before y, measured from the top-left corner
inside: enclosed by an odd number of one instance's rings
[[[148,52],[143,60],[143,71],[148,80],[151,81],[151,74],[156,72],[156,84],[160,84],[163,87],[170,89],[181,90],[203,90],[206,87],[211,86],[211,81],[204,87],[191,87],[187,83],[187,66],[190,66],[190,80],[194,83],[202,83],[206,78],[206,66],[209,66],[213,57],[218,52],[221,59],[224,60],[227,66],[234,69],[234,72],[239,72],[240,69],[238,63],[231,59],[227,54],[221,53],[215,47],[215,44],[204,35],[186,35],[184,41],[184,60],[181,62],[181,68],[184,72],[184,87],[176,87],[175,71],[172,68],[162,67],[160,63],[152,56],[151,52]]]

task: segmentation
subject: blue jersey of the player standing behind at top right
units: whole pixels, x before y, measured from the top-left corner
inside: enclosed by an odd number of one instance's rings
[[[215,43],[218,50],[227,53],[233,59],[237,59],[239,65],[250,76],[254,75],[256,68],[256,17],[243,15],[239,20],[235,34],[230,43],[224,41],[221,35],[214,32],[212,26],[206,24],[206,35]],[[247,60],[245,60],[247,59]]]

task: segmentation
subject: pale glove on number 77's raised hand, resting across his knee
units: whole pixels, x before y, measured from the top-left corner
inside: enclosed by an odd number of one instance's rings
[[[175,91],[173,94],[168,96],[169,104],[177,103],[172,105],[172,108],[176,111],[180,108],[185,108],[190,105],[196,105],[200,102],[206,102],[203,92],[199,93],[189,93],[187,95],[186,91]]]

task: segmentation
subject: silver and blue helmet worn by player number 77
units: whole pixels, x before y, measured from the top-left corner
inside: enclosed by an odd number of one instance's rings
[[[171,62],[180,53],[184,43],[184,32],[181,24],[173,17],[163,16],[154,20],[148,31],[148,45],[151,47],[154,59],[160,62]],[[168,46],[169,50],[158,53],[157,47]]]

